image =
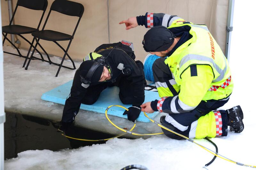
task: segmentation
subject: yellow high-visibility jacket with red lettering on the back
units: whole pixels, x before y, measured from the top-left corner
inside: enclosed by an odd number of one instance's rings
[[[225,100],[233,90],[228,61],[207,26],[173,17],[168,29],[172,31],[182,26],[189,29],[192,38],[165,60],[180,89],[179,94],[168,101],[169,111],[166,113],[188,112],[202,100]],[[161,88],[158,92],[160,97],[170,96]]]

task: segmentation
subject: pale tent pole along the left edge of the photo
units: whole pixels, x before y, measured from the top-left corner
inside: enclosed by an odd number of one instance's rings
[[[0,18],[1,17],[1,4],[0,4]],[[0,22],[0,32],[2,33],[2,22]],[[0,170],[4,170],[4,57],[3,57],[3,44],[2,36],[0,41]]]

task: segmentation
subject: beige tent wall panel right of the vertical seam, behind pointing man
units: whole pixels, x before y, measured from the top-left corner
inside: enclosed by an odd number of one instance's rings
[[[139,26],[125,30],[125,26],[118,23],[146,12],[178,15],[195,24],[207,25],[225,54],[228,0],[109,0],[110,42],[123,39],[133,42],[135,55],[141,61],[148,54],[141,44],[148,29]]]

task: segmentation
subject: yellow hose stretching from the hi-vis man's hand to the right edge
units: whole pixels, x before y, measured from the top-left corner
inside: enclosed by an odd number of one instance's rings
[[[144,112],[144,115],[145,115],[151,122],[155,123],[155,121],[152,120],[152,119],[150,119],[150,118],[148,117],[148,115],[147,115],[145,112]],[[157,125],[160,126],[161,128],[163,128],[163,129],[165,129],[165,130],[168,130],[168,131],[170,131],[170,132],[172,132],[172,133],[174,133],[174,134],[176,134],[176,135],[178,135],[178,136],[180,136],[180,137],[184,137],[185,139],[188,139],[190,142],[193,142],[193,143],[197,144],[198,146],[200,146],[201,148],[203,148],[203,149],[206,150],[207,152],[210,152],[211,154],[213,154],[213,155],[215,155],[215,156],[217,156],[217,157],[219,157],[219,158],[221,158],[221,159],[224,159],[224,160],[226,160],[226,161],[235,163],[235,164],[237,164],[237,165],[249,166],[249,167],[254,167],[254,168],[256,168],[256,166],[253,166],[253,165],[241,164],[241,163],[235,162],[235,161],[233,161],[233,160],[230,160],[230,159],[228,159],[228,158],[225,158],[224,156],[222,156],[222,155],[220,155],[220,154],[216,154],[216,152],[210,151],[208,148],[202,146],[201,144],[196,143],[194,140],[189,139],[189,138],[186,137],[186,136],[183,136],[183,135],[181,135],[181,134],[179,134],[179,133],[177,133],[177,132],[175,132],[175,131],[172,131],[171,129],[168,129],[168,128],[166,128],[165,126],[163,126],[163,125],[161,125],[161,124],[159,124],[159,123],[155,123],[155,124],[157,124]]]

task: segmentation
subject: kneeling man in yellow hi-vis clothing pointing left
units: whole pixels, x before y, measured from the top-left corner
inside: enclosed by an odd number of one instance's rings
[[[217,110],[228,102],[233,80],[228,61],[207,26],[176,15],[148,12],[122,23],[126,29],[138,25],[151,28],[144,35],[143,48],[162,57],[152,68],[161,99],[142,104],[142,111],[168,113],[160,122],[189,138],[227,136],[228,126],[236,133],[243,131],[240,106]],[[165,129],[163,132],[181,139]]]

